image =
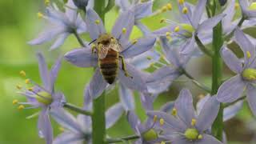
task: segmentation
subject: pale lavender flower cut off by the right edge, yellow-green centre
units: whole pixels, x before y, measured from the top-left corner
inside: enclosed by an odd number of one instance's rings
[[[219,102],[234,102],[240,98],[243,91],[246,90],[250,109],[256,114],[256,99],[254,97],[256,92],[254,86],[256,80],[255,46],[250,42],[249,38],[243,34],[242,30],[235,30],[234,38],[235,42],[238,43],[243,51],[244,62],[238,59],[228,48],[222,48],[221,54],[226,66],[234,71],[236,75],[219,87],[217,98]]]

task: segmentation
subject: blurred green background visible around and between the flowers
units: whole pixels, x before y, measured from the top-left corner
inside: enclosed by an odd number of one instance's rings
[[[154,3],[154,10],[164,6],[167,1],[159,0]],[[174,2],[174,1],[168,1]],[[25,86],[24,78],[19,75],[20,70],[25,70],[29,78],[35,82],[40,82],[38,77],[38,62],[35,52],[43,51],[46,55],[49,66],[58,58],[59,54],[65,54],[74,47],[79,47],[74,36],[70,36],[65,44],[58,50],[49,52],[51,43],[42,46],[29,46],[26,44],[30,39],[35,38],[46,22],[38,19],[38,11],[44,10],[42,0],[0,0],[0,144],[40,144],[44,143],[38,138],[37,118],[26,119],[30,114],[37,110],[18,110],[17,106],[12,105],[14,99],[26,101],[26,98],[17,94],[15,88],[17,84]],[[110,31],[114,25],[114,19],[118,16],[118,9],[113,9],[106,14],[106,28]],[[162,17],[172,18],[174,12],[167,12],[154,18],[145,18],[142,20],[151,30],[156,30],[164,26],[159,21]],[[132,38],[138,38],[142,34],[134,27]],[[83,38],[88,38],[83,35]],[[89,40],[89,39],[87,39]],[[188,66],[188,70],[199,79],[200,82],[210,84],[210,60],[208,58],[196,58]],[[82,106],[83,90],[92,76],[92,69],[82,69],[71,66],[63,62],[62,69],[58,75],[56,83],[57,90],[62,90],[66,95],[67,102]],[[230,70],[226,69],[226,75],[231,75]],[[181,78],[185,79],[185,78]],[[161,94],[155,102],[155,108],[158,109],[163,103],[174,99],[182,87],[189,87],[197,100],[198,94],[205,94],[202,90],[193,86],[190,82],[174,82],[170,90]],[[146,118],[139,103],[138,94],[135,94],[136,108],[140,118]],[[118,90],[114,89],[107,95],[107,106],[118,102]],[[238,116],[229,122],[226,122],[226,133],[230,143],[254,143],[256,124],[247,105],[239,112]],[[61,131],[58,125],[54,123],[54,135]],[[133,134],[130,126],[123,116],[114,127],[108,130],[112,137],[125,136]]]

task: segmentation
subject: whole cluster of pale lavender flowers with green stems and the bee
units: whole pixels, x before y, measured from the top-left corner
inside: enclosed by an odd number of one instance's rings
[[[13,103],[19,105],[19,110],[41,108],[30,118],[38,116],[38,134],[46,139],[47,144],[99,144],[133,139],[136,139],[136,144],[226,143],[221,125],[241,109],[245,98],[242,97],[243,91],[246,91],[247,102],[256,115],[255,42],[242,31],[256,22],[255,2],[198,0],[194,5],[177,0],[166,3],[159,10],[153,10],[153,0],[100,2],[68,0],[63,3],[63,9],[59,9],[54,2],[45,0],[45,13],[38,13],[38,18],[45,19],[49,26],[38,38],[28,42],[30,45],[41,45],[55,39],[50,46],[50,50],[54,50],[61,47],[70,34],[74,34],[81,45],[58,58],[50,70],[42,53],[38,52],[42,86],[30,78],[25,80],[27,86],[17,86],[19,94],[25,95],[27,102],[15,99]],[[119,15],[109,32],[104,25],[108,20],[105,14],[114,6],[118,8]],[[173,12],[174,7],[178,7],[178,13]],[[242,11],[241,18],[234,17],[237,10]],[[166,26],[159,30],[150,30],[142,22],[142,18],[165,12],[174,13],[177,19],[162,18],[161,23],[166,23]],[[132,39],[134,26],[141,30],[141,38]],[[88,34],[90,39],[84,41],[81,34]],[[244,58],[238,58],[228,48],[230,42],[238,44]],[[186,70],[191,59],[204,54],[213,61],[212,89],[198,82]],[[86,84],[82,108],[66,102],[64,94],[54,89],[62,59],[74,66],[94,69],[93,77]],[[222,61],[236,73],[225,82],[220,82],[219,77]],[[26,77],[25,71],[20,74]],[[154,110],[158,95],[169,90],[182,75],[210,94],[200,98],[194,109],[190,90],[182,89],[174,102],[166,102],[159,110]],[[114,90],[114,86],[118,86],[120,102],[105,112],[105,94]],[[137,115],[134,91],[138,92],[146,112],[145,122]],[[225,108],[223,103],[226,103]],[[66,109],[79,114],[74,117]],[[106,129],[114,126],[122,114],[126,114],[135,135],[111,138]],[[62,126],[62,134],[56,138],[50,117]],[[102,122],[100,126],[95,125],[95,118],[102,118],[98,121]]]

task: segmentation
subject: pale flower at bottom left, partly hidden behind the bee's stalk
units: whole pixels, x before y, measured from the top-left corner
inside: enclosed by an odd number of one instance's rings
[[[87,109],[87,108],[86,108]],[[109,129],[122,116],[120,103],[106,111],[106,129]],[[51,116],[64,128],[64,132],[54,139],[54,144],[92,143],[92,122],[90,116],[78,114],[77,118],[63,109],[51,111]]]

